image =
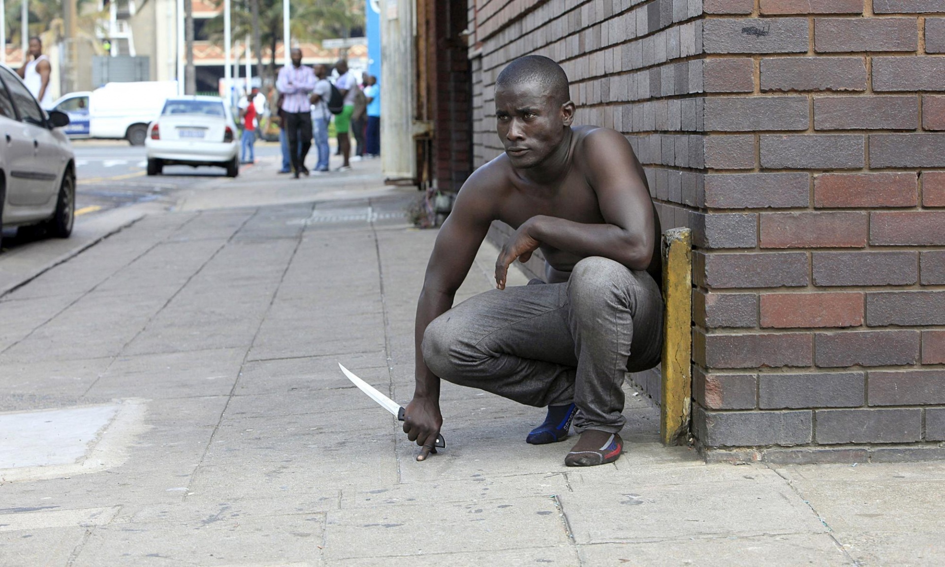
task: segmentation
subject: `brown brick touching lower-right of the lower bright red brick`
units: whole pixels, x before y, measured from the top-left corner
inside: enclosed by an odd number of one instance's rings
[[[919,331],[817,333],[815,348],[821,368],[916,364]]]

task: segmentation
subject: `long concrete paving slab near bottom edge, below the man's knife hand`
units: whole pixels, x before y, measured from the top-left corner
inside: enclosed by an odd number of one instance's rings
[[[552,498],[429,502],[327,513],[325,558],[423,556],[565,545],[568,537]],[[353,541],[359,542],[352,545]]]

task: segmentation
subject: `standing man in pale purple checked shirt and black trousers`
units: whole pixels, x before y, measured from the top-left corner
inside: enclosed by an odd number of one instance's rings
[[[300,173],[308,175],[305,156],[312,146],[312,115],[309,113],[312,105],[308,95],[315,89],[316,78],[311,67],[301,64],[300,48],[292,49],[291,58],[292,65],[279,70],[276,88],[283,94],[285,137],[295,179],[299,179]]]

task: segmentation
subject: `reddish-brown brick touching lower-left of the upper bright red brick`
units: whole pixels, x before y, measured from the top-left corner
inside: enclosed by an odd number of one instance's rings
[[[867,213],[761,215],[761,248],[860,248],[867,232]]]

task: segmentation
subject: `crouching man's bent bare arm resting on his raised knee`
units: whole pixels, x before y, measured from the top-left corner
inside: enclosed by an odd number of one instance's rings
[[[580,257],[603,256],[630,269],[646,269],[654,246],[653,205],[633,148],[619,132],[597,129],[583,141],[576,157],[588,172],[605,224],[585,224],[537,215],[509,238],[495,265],[502,289],[508,266],[526,261],[541,244]]]

